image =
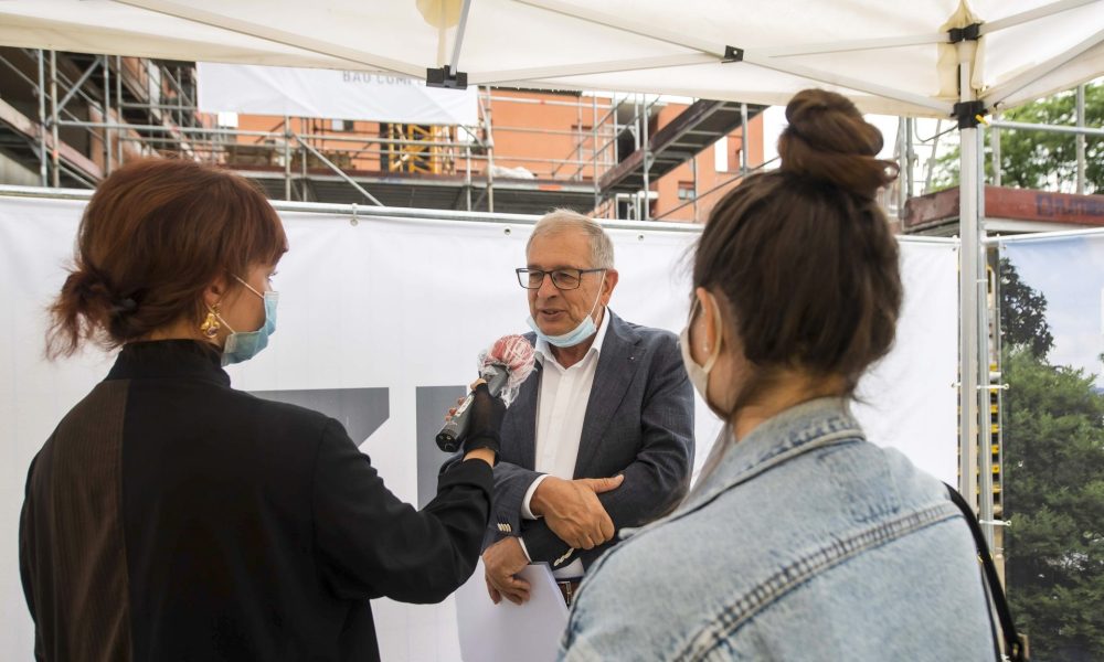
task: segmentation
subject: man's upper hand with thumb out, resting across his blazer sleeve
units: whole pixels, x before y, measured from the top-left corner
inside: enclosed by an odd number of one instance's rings
[[[593,549],[614,537],[614,523],[598,494],[620,487],[624,474],[613,478],[544,479],[529,509],[548,522],[552,533],[576,549]]]

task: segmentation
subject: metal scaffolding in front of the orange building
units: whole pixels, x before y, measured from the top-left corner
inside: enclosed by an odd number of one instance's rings
[[[656,96],[480,88],[470,127],[301,117],[257,126],[254,116],[246,129],[199,113],[192,63],[0,49],[0,72],[8,74],[0,75],[0,158],[36,172],[44,186],[94,188],[126,161],[173,156],[234,169],[274,200],[522,213],[567,206],[649,220],[657,195],[659,134],[650,134],[665,102]],[[562,127],[496,121],[518,106],[573,110],[574,119]],[[631,191],[604,185],[630,157],[643,158]],[[741,159],[746,173],[743,150]]]

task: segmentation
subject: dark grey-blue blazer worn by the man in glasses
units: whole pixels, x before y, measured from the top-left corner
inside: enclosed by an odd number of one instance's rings
[[[625,474],[620,487],[598,494],[620,531],[655,520],[686,494],[693,468],[693,387],[673,333],[626,322],[606,310],[609,328],[586,405],[574,478]],[[527,338],[535,343],[533,334]],[[533,471],[540,383],[538,363],[506,412],[484,543],[520,535],[534,562],[564,567],[577,554],[586,567],[616,544],[616,535],[594,549],[576,552],[543,519],[521,517],[526,491],[541,476]]]

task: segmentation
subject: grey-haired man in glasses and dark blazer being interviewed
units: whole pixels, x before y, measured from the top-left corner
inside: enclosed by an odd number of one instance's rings
[[[601,225],[552,212],[526,254],[518,280],[538,362],[502,424],[484,564],[496,602],[527,600],[517,573],[548,562],[570,604],[616,531],[655,520],[686,494],[693,387],[673,333],[608,309],[618,275]]]

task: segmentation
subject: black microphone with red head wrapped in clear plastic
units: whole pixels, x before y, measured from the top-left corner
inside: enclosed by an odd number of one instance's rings
[[[479,376],[487,382],[487,391],[510,406],[521,383],[529,378],[535,363],[533,345],[523,335],[503,335],[489,349],[479,353]],[[460,449],[468,431],[468,417],[475,394],[469,393],[456,414],[437,433],[437,448],[445,452]]]

